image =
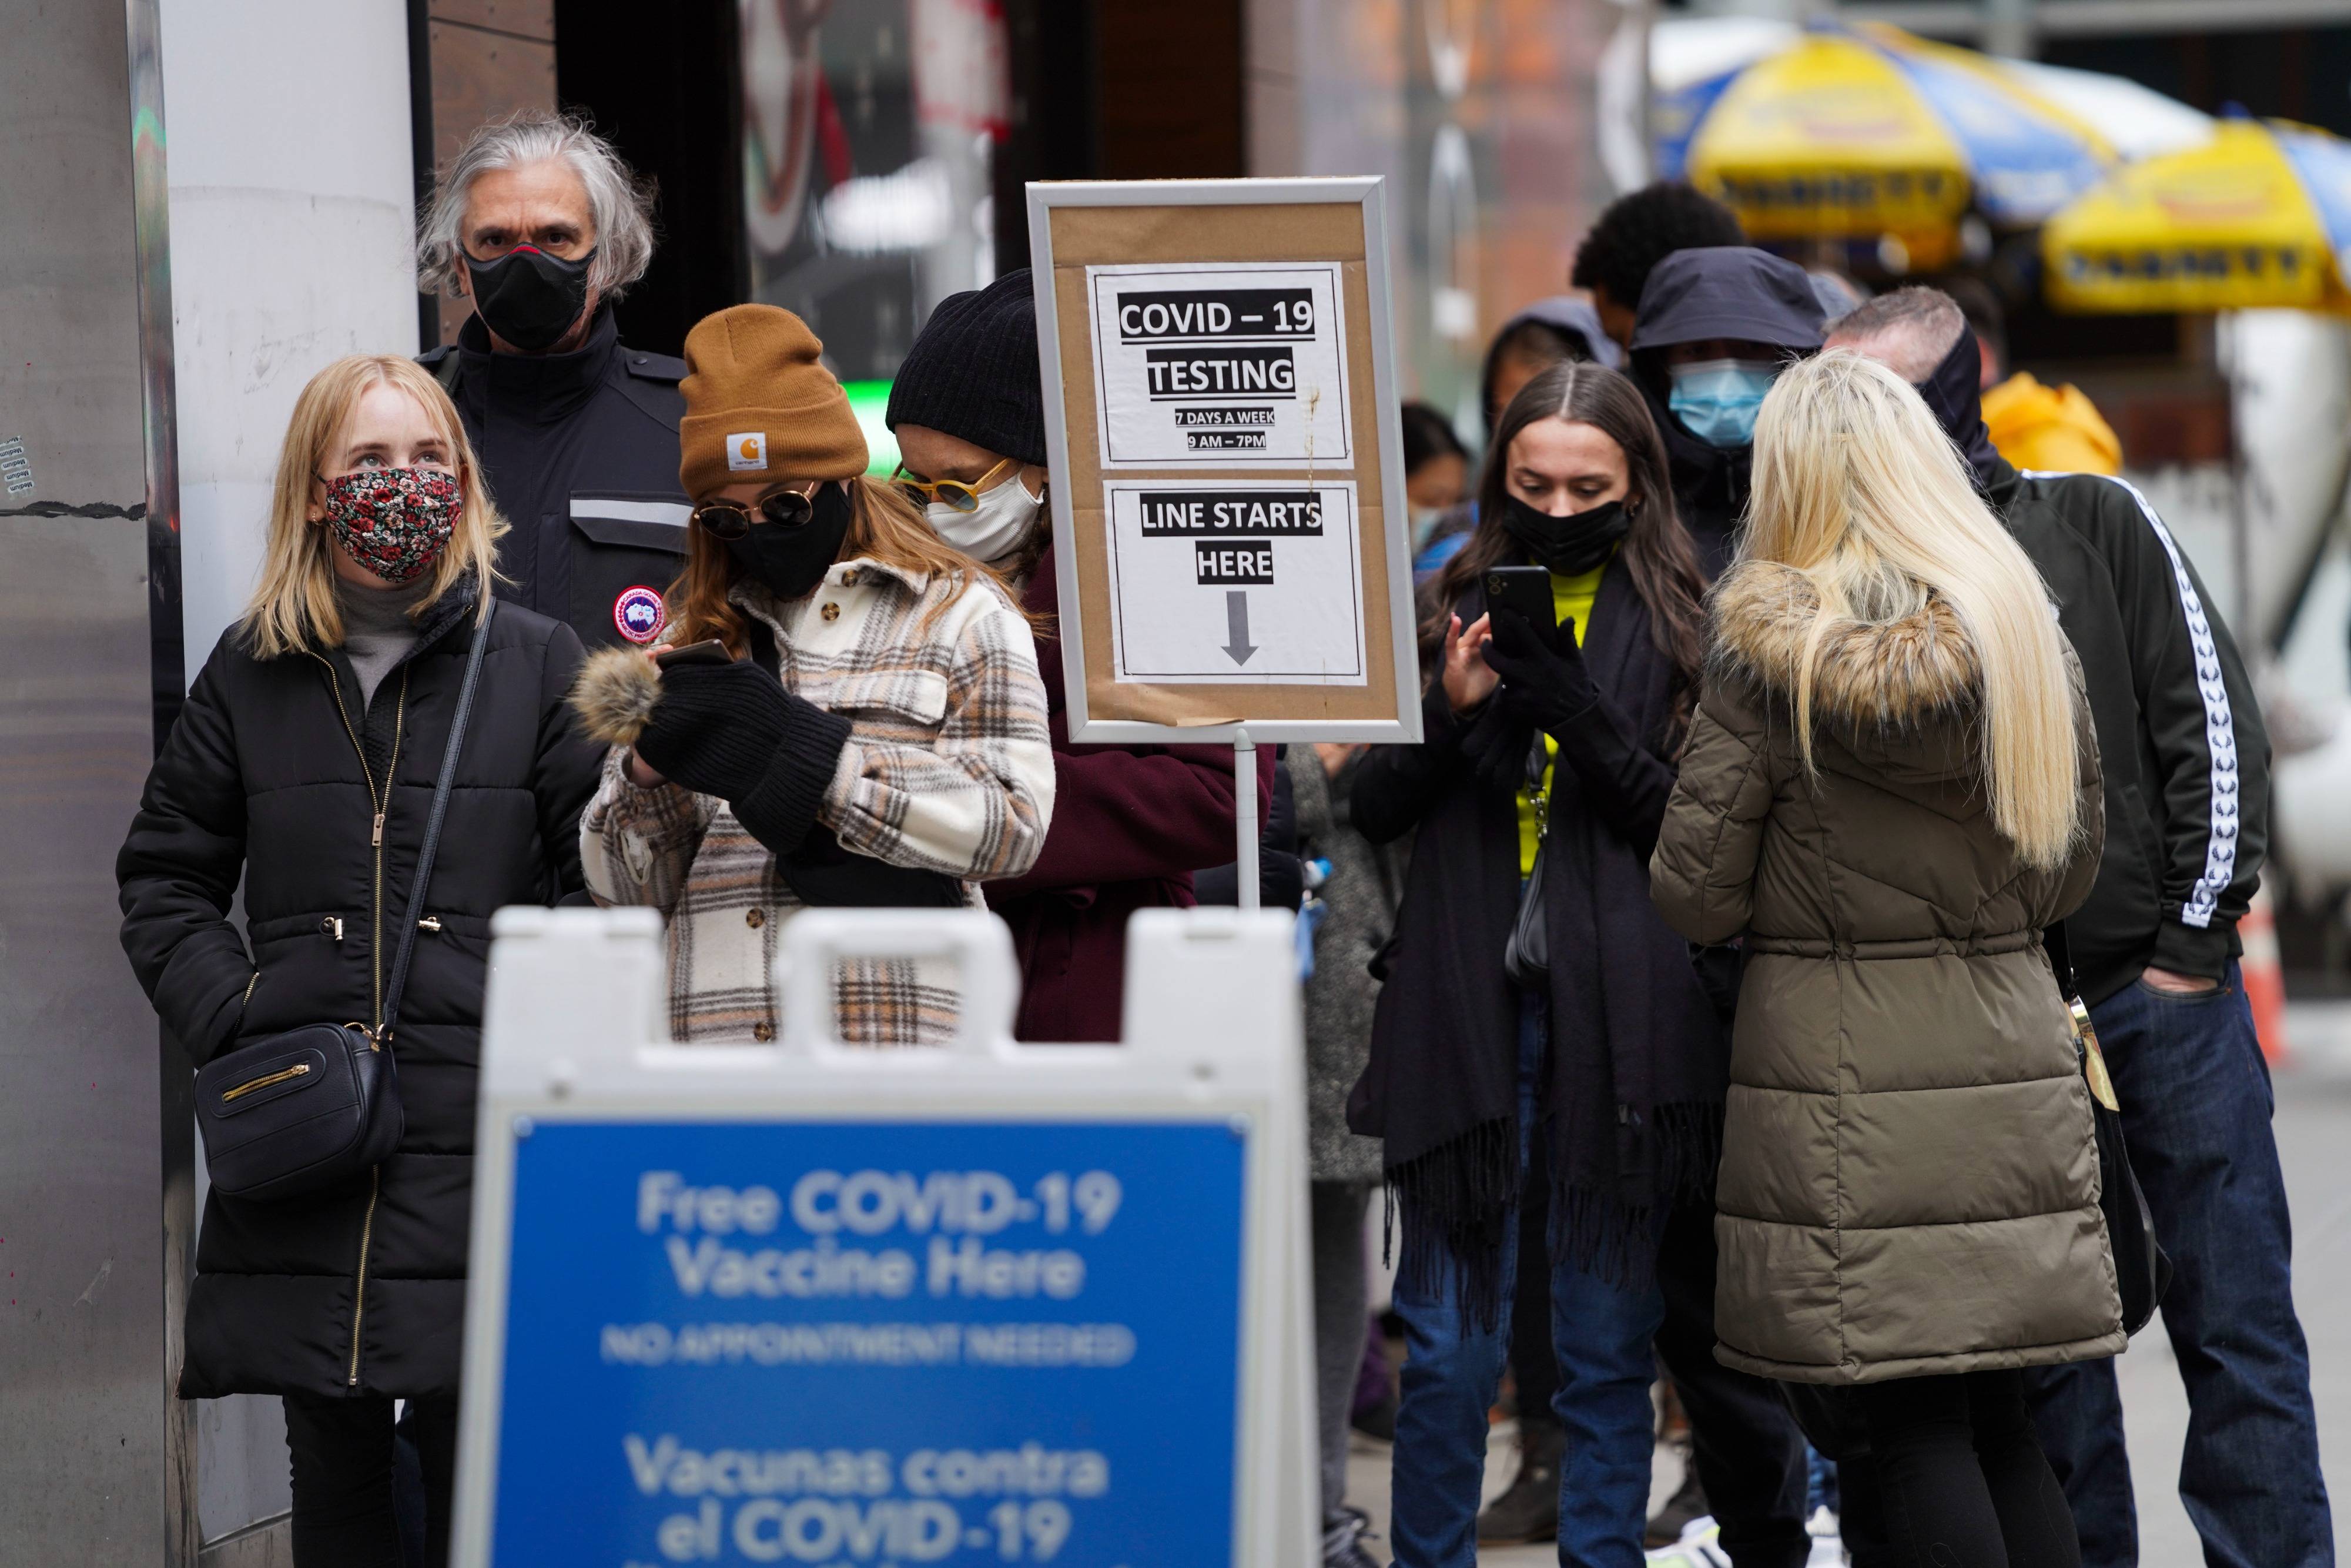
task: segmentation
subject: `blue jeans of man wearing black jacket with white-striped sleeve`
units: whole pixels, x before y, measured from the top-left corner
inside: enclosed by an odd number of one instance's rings
[[[2295,1319],[2269,1065],[2238,971],[2231,964],[2208,997],[2132,983],[2090,1013],[2123,1100],[2130,1168],[2177,1269],[2163,1331],[2189,1394],[2179,1502],[2205,1563],[2330,1568],[2335,1526]],[[2083,1568],[2132,1568],[2139,1523],[2114,1361],[2043,1368],[2029,1385]]]

